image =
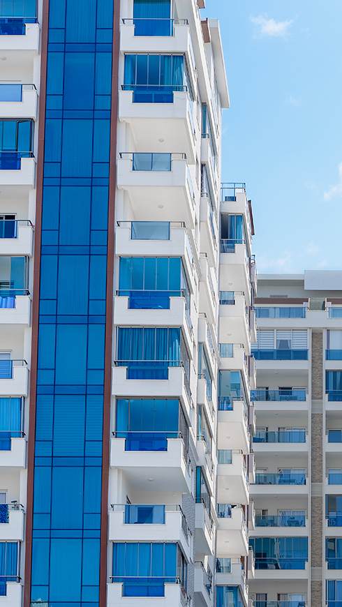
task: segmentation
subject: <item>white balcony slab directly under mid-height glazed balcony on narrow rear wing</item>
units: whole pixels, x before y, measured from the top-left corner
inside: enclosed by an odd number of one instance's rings
[[[233,400],[232,411],[218,411],[218,449],[249,452],[248,409],[243,400]]]

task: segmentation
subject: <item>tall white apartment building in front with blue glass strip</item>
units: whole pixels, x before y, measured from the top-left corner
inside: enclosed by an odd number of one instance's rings
[[[247,607],[253,216],[204,6],[0,4],[3,606]]]

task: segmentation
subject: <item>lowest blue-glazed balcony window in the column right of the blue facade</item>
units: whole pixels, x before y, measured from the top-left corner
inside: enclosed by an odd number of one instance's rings
[[[124,597],[163,597],[177,578],[186,590],[186,569],[178,544],[113,544],[112,581],[124,583]]]

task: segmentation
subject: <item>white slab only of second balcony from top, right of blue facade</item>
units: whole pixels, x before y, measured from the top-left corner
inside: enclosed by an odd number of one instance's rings
[[[188,162],[194,164],[191,111],[191,101],[185,91],[175,91],[173,103],[133,103],[132,91],[119,91],[119,120],[131,125],[137,151],[175,150],[186,153]],[[159,139],[164,140],[162,144]]]

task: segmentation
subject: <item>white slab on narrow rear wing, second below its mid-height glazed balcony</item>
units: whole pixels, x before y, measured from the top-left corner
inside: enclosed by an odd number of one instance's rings
[[[249,487],[243,455],[233,455],[231,464],[217,466],[218,504],[248,504]]]

